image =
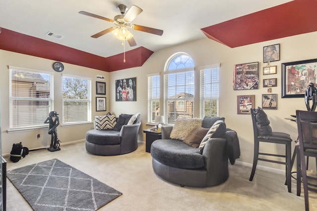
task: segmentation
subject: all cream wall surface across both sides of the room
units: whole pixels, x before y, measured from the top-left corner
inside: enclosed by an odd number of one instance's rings
[[[247,36],[247,34],[246,34]],[[317,32],[267,41],[263,43],[243,46],[231,49],[222,44],[214,42],[210,39],[203,39],[163,49],[155,52],[143,64],[142,67],[129,68],[125,70],[106,73],[99,70],[80,67],[71,64],[64,64],[64,72],[67,74],[78,74],[81,76],[90,76],[93,78],[93,102],[95,99],[95,78],[96,75],[106,76],[106,97],[107,111],[118,116],[120,113],[141,112],[142,129],[146,128],[147,123],[147,74],[163,71],[164,64],[170,55],[176,52],[189,53],[196,66],[204,66],[208,64],[220,63],[220,102],[219,116],[225,117],[227,127],[237,131],[240,140],[241,157],[238,159],[242,162],[252,163],[253,160],[253,129],[250,115],[237,114],[237,96],[238,95],[255,95],[256,106],[262,104],[262,94],[267,93],[267,88],[263,88],[262,81],[265,78],[277,78],[277,87],[272,87],[272,94],[277,94],[277,110],[265,110],[271,121],[273,131],[282,131],[289,133],[293,140],[297,139],[297,127],[294,122],[286,120],[291,114],[295,114],[296,109],[305,110],[306,106],[303,98],[281,98],[281,63],[290,61],[299,61],[316,58],[315,50],[317,49]],[[280,61],[271,62],[271,65],[277,65],[277,74],[263,76],[263,67],[267,63],[263,63],[263,47],[268,45],[280,44]],[[128,57],[126,58],[129,59]],[[259,61],[260,67],[260,87],[258,90],[233,90],[233,71],[234,65],[240,63],[249,63]],[[0,87],[1,87],[1,126],[2,126],[2,153],[9,153],[13,143],[24,143],[29,148],[48,145],[50,137],[47,130],[21,132],[7,134],[8,129],[8,68],[7,65],[21,66],[33,69],[43,69],[52,71],[51,65],[53,61],[49,59],[37,58],[34,56],[0,51]],[[60,77],[55,73],[55,78]],[[57,76],[56,76],[57,75]],[[122,78],[137,78],[137,101],[136,102],[116,102],[115,101],[115,80]],[[55,80],[58,81],[58,80]],[[60,81],[58,82],[60,83]],[[58,84],[55,84],[55,86]],[[59,84],[60,85],[60,84]],[[55,90],[57,88],[55,87]],[[61,101],[56,98],[55,91],[55,110],[61,112]],[[58,106],[60,105],[60,106]],[[93,105],[93,116],[100,113],[95,112],[95,103]],[[195,106],[195,116],[199,117],[198,106]],[[92,125],[60,127],[58,128],[58,136],[61,141],[69,142],[78,139],[84,139],[87,130]],[[139,132],[139,140],[145,140],[145,136]],[[35,134],[43,134],[43,140],[36,140]],[[46,135],[45,135],[46,134]],[[294,148],[294,144],[293,144]],[[283,153],[284,148],[281,146],[264,146],[264,150],[270,152]],[[292,149],[293,150],[293,149]],[[314,162],[311,162],[314,164]],[[259,162],[260,165],[284,169],[284,166]]]

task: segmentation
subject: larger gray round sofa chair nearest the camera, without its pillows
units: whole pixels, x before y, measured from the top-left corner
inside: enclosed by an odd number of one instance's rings
[[[207,128],[208,131],[216,119],[224,120],[223,117],[205,116],[200,130]],[[162,139],[154,141],[151,146],[154,172],[182,187],[209,187],[225,182],[229,177],[228,160],[235,163],[235,159],[240,157],[240,147],[236,131],[224,128],[224,134],[209,138],[200,152],[199,148],[183,140],[170,138],[173,126],[162,126]],[[197,137],[190,132],[192,137]]]

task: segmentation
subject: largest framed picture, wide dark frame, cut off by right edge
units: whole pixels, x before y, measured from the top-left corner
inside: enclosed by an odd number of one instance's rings
[[[317,58],[282,63],[282,98],[304,98],[310,83],[316,85]]]

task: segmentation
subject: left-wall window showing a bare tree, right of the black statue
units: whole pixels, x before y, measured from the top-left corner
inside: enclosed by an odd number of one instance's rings
[[[63,123],[91,120],[91,80],[62,76]]]

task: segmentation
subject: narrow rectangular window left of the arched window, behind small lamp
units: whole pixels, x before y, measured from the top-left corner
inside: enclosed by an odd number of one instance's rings
[[[148,76],[148,122],[159,115],[159,75]]]

